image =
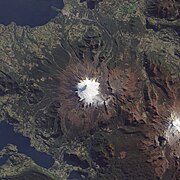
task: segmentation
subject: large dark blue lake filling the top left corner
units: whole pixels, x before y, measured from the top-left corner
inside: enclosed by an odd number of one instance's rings
[[[63,0],[0,0],[0,24],[40,26],[57,15],[52,7],[63,6]]]

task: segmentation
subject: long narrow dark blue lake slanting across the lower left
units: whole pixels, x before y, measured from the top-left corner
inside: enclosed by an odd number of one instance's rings
[[[13,126],[3,121],[0,123],[0,150],[7,144],[16,145],[19,153],[31,157],[39,166],[50,168],[54,164],[54,159],[51,155],[31,147],[29,138],[14,132]],[[4,164],[7,159],[7,156],[0,158],[0,165]]]

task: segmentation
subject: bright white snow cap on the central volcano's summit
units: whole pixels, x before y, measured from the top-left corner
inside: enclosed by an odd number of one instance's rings
[[[100,83],[95,79],[86,77],[77,84],[77,89],[78,97],[85,105],[99,106],[104,104],[105,99],[100,92]]]

